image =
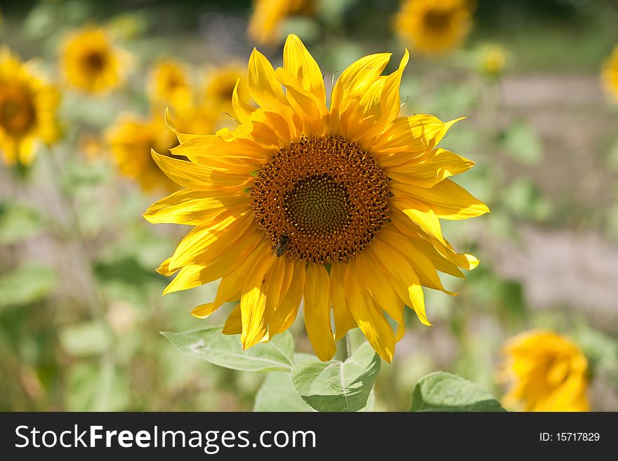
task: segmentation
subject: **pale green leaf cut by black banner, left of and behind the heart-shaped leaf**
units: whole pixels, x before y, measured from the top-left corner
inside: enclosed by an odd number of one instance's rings
[[[254,411],[315,411],[301,399],[285,371],[268,373],[256,395]]]

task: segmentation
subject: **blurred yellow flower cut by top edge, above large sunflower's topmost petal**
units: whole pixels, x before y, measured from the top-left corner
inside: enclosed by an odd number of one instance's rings
[[[315,0],[254,0],[247,34],[257,44],[276,44],[281,24],[292,15],[315,14]]]

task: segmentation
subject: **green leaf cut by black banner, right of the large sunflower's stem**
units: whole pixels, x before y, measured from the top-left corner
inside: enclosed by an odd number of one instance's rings
[[[452,373],[437,371],[416,383],[410,411],[505,411],[484,388]]]

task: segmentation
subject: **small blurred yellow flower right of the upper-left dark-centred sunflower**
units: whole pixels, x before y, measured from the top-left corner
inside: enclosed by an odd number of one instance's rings
[[[148,94],[154,102],[169,102],[186,107],[192,104],[190,71],[175,60],[159,60],[152,67],[148,78]]]

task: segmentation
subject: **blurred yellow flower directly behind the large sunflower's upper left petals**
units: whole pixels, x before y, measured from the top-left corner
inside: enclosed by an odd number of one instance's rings
[[[170,155],[169,149],[178,145],[176,136],[166,129],[160,116],[144,120],[133,114],[124,114],[107,130],[105,138],[118,171],[136,180],[144,192],[178,189],[161,173],[150,155],[150,149]]]

